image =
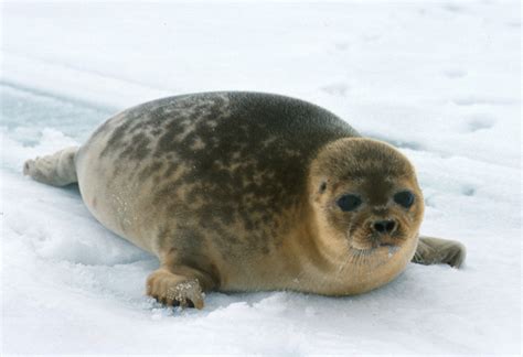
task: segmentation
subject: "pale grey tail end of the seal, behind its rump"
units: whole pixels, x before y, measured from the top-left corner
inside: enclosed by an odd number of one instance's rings
[[[23,164],[23,174],[53,186],[78,182],[75,166],[77,151],[77,147],[66,148],[52,155],[28,160]]]

